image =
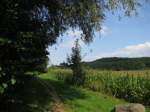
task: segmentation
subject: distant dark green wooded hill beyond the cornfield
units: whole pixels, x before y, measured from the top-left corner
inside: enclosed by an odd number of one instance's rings
[[[143,70],[150,68],[150,58],[102,58],[83,64],[101,70]]]

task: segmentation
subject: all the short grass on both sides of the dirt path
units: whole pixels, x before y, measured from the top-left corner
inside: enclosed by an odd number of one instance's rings
[[[94,92],[91,88],[79,88],[58,80],[58,73],[70,70],[53,69],[38,77],[22,78],[22,85],[15,86],[7,91],[2,99],[1,112],[55,112],[52,111],[54,101],[51,97],[51,89],[40,82],[45,81],[53,86],[64,104],[64,112],[111,112],[116,104],[127,103],[100,92]],[[56,78],[57,77],[57,78]],[[60,78],[60,77],[59,77]],[[147,112],[150,110],[147,109]]]

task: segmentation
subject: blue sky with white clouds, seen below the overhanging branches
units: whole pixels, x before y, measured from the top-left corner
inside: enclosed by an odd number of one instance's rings
[[[81,31],[69,29],[58,38],[57,44],[49,46],[49,65],[66,61],[71,54],[74,41]],[[103,57],[150,57],[150,4],[138,8],[138,15],[132,17],[106,13],[100,32],[95,32],[94,40],[86,45],[80,40],[83,61]]]

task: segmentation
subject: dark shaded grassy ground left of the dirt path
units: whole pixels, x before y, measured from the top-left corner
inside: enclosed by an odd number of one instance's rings
[[[0,112],[48,112],[52,108],[49,89],[43,86],[40,78],[24,76],[0,97]]]

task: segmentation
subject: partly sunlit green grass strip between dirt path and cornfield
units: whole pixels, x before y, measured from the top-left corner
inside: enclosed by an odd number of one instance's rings
[[[65,112],[111,112],[116,104],[127,103],[99,92],[69,86],[51,74],[40,76],[51,83],[64,103]],[[147,112],[150,112],[147,110]]]

